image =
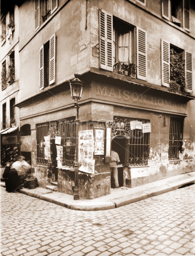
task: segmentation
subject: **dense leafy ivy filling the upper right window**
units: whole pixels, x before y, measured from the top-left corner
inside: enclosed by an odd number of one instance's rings
[[[173,48],[170,50],[170,87],[168,90],[174,93],[187,90],[183,53],[177,52]]]

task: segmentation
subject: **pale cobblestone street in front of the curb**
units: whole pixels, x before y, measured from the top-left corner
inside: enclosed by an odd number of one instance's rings
[[[194,195],[191,185],[87,212],[1,187],[1,255],[195,255]]]

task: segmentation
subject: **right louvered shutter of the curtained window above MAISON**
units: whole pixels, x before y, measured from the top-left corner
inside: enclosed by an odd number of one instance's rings
[[[137,78],[147,80],[147,32],[137,28]]]

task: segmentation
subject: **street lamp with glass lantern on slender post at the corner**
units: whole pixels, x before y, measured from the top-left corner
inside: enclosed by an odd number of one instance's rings
[[[83,90],[83,81],[79,79],[80,75],[74,74],[75,78],[70,80],[70,91],[71,97],[74,100],[74,106],[77,108],[77,117],[76,117],[76,158],[74,164],[74,200],[79,199],[79,105],[78,100],[81,98]]]

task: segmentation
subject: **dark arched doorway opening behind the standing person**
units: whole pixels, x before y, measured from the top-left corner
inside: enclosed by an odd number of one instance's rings
[[[111,141],[111,150],[114,150],[118,153],[120,163],[122,164],[122,167],[118,167],[118,184],[119,187],[122,187],[125,185],[124,180],[124,167],[125,166],[125,159],[128,155],[128,139],[125,136],[118,135],[115,136]],[[113,178],[111,176],[111,187],[113,187]]]

